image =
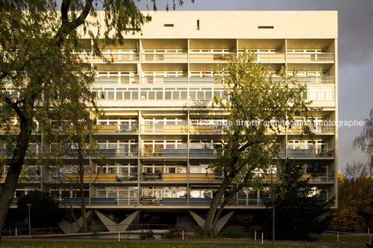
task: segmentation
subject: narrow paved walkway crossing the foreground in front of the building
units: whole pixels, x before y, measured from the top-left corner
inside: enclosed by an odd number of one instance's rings
[[[49,242],[118,242],[113,239],[88,239],[88,238],[6,238],[3,240],[13,241],[49,241]],[[260,244],[261,241],[253,240],[120,240],[123,243],[175,243],[175,244]],[[271,244],[271,240],[264,240],[264,244]],[[364,242],[311,242],[279,240],[276,245],[312,245],[317,247],[366,247]]]

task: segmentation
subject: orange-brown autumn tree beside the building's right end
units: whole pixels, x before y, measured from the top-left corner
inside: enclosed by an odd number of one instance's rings
[[[344,174],[338,175],[338,210],[332,221],[335,228],[373,228],[373,177],[367,176],[368,167],[347,165]]]

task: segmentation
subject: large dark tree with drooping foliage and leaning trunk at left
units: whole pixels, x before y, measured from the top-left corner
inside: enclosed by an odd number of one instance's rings
[[[155,10],[156,1],[151,2]],[[104,10],[100,18],[99,9]],[[100,45],[122,43],[125,33],[141,32],[149,21],[134,0],[0,2],[0,128],[9,133],[11,154],[10,160],[2,159],[9,170],[0,194],[0,238],[31,133],[41,129],[47,135],[50,120],[66,111],[60,104],[70,102],[74,92],[84,104],[95,106],[89,93],[94,68],[79,51],[102,57]],[[93,42],[82,42],[83,36]]]

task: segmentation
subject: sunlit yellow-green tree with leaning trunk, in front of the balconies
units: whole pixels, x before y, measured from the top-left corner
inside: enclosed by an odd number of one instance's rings
[[[308,104],[301,98],[305,85],[294,83],[285,69],[281,73],[283,81],[273,81],[268,68],[256,63],[247,51],[233,57],[222,69],[221,81],[228,99],[214,97],[214,104],[228,111],[228,128],[222,153],[216,163],[209,165],[223,181],[207,213],[207,235],[216,235],[215,226],[225,204],[244,186],[257,184],[260,179],[256,172],[267,170],[271,158],[277,157],[276,133],[280,126],[271,121],[293,120],[301,113],[307,117]]]

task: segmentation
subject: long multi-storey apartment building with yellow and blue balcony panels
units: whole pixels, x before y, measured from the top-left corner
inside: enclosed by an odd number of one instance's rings
[[[87,208],[95,210],[88,216],[93,216],[91,224],[105,224],[109,231],[109,224],[123,219],[120,223],[129,224],[140,215],[149,221],[153,215],[167,215],[154,222],[181,224],[186,216],[207,213],[221,183],[207,166],[216,160],[224,134],[222,126],[198,122],[224,122],[227,113],[212,107],[214,94],[225,97],[214,70],[244,49],[251,49],[257,62],[270,67],[273,80],[281,67],[287,66],[290,74],[298,70],[297,81],[308,87],[303,99],[322,108],[313,113],[315,119],[338,120],[337,12],[149,14],[152,22],[143,26],[143,35],[129,34],[122,45],[103,49],[113,63],[89,52],[81,57],[97,67],[93,90],[105,115],[97,117],[96,138],[109,160],[103,165],[97,158],[86,159]],[[302,137],[300,128],[280,133],[280,158],[301,165],[315,193],[331,199],[337,194],[338,128],[320,124],[312,131],[315,142]],[[30,149],[42,152],[41,147],[31,144]],[[6,154],[5,147],[0,148]],[[65,159],[67,165],[74,163]],[[317,170],[312,168],[315,161],[320,165]],[[62,201],[68,198],[79,208],[78,189],[66,191],[54,180],[55,174],[72,176],[67,167],[40,173],[31,163],[14,202],[39,189]],[[263,209],[268,197],[265,188],[245,188],[225,208],[232,214]]]

